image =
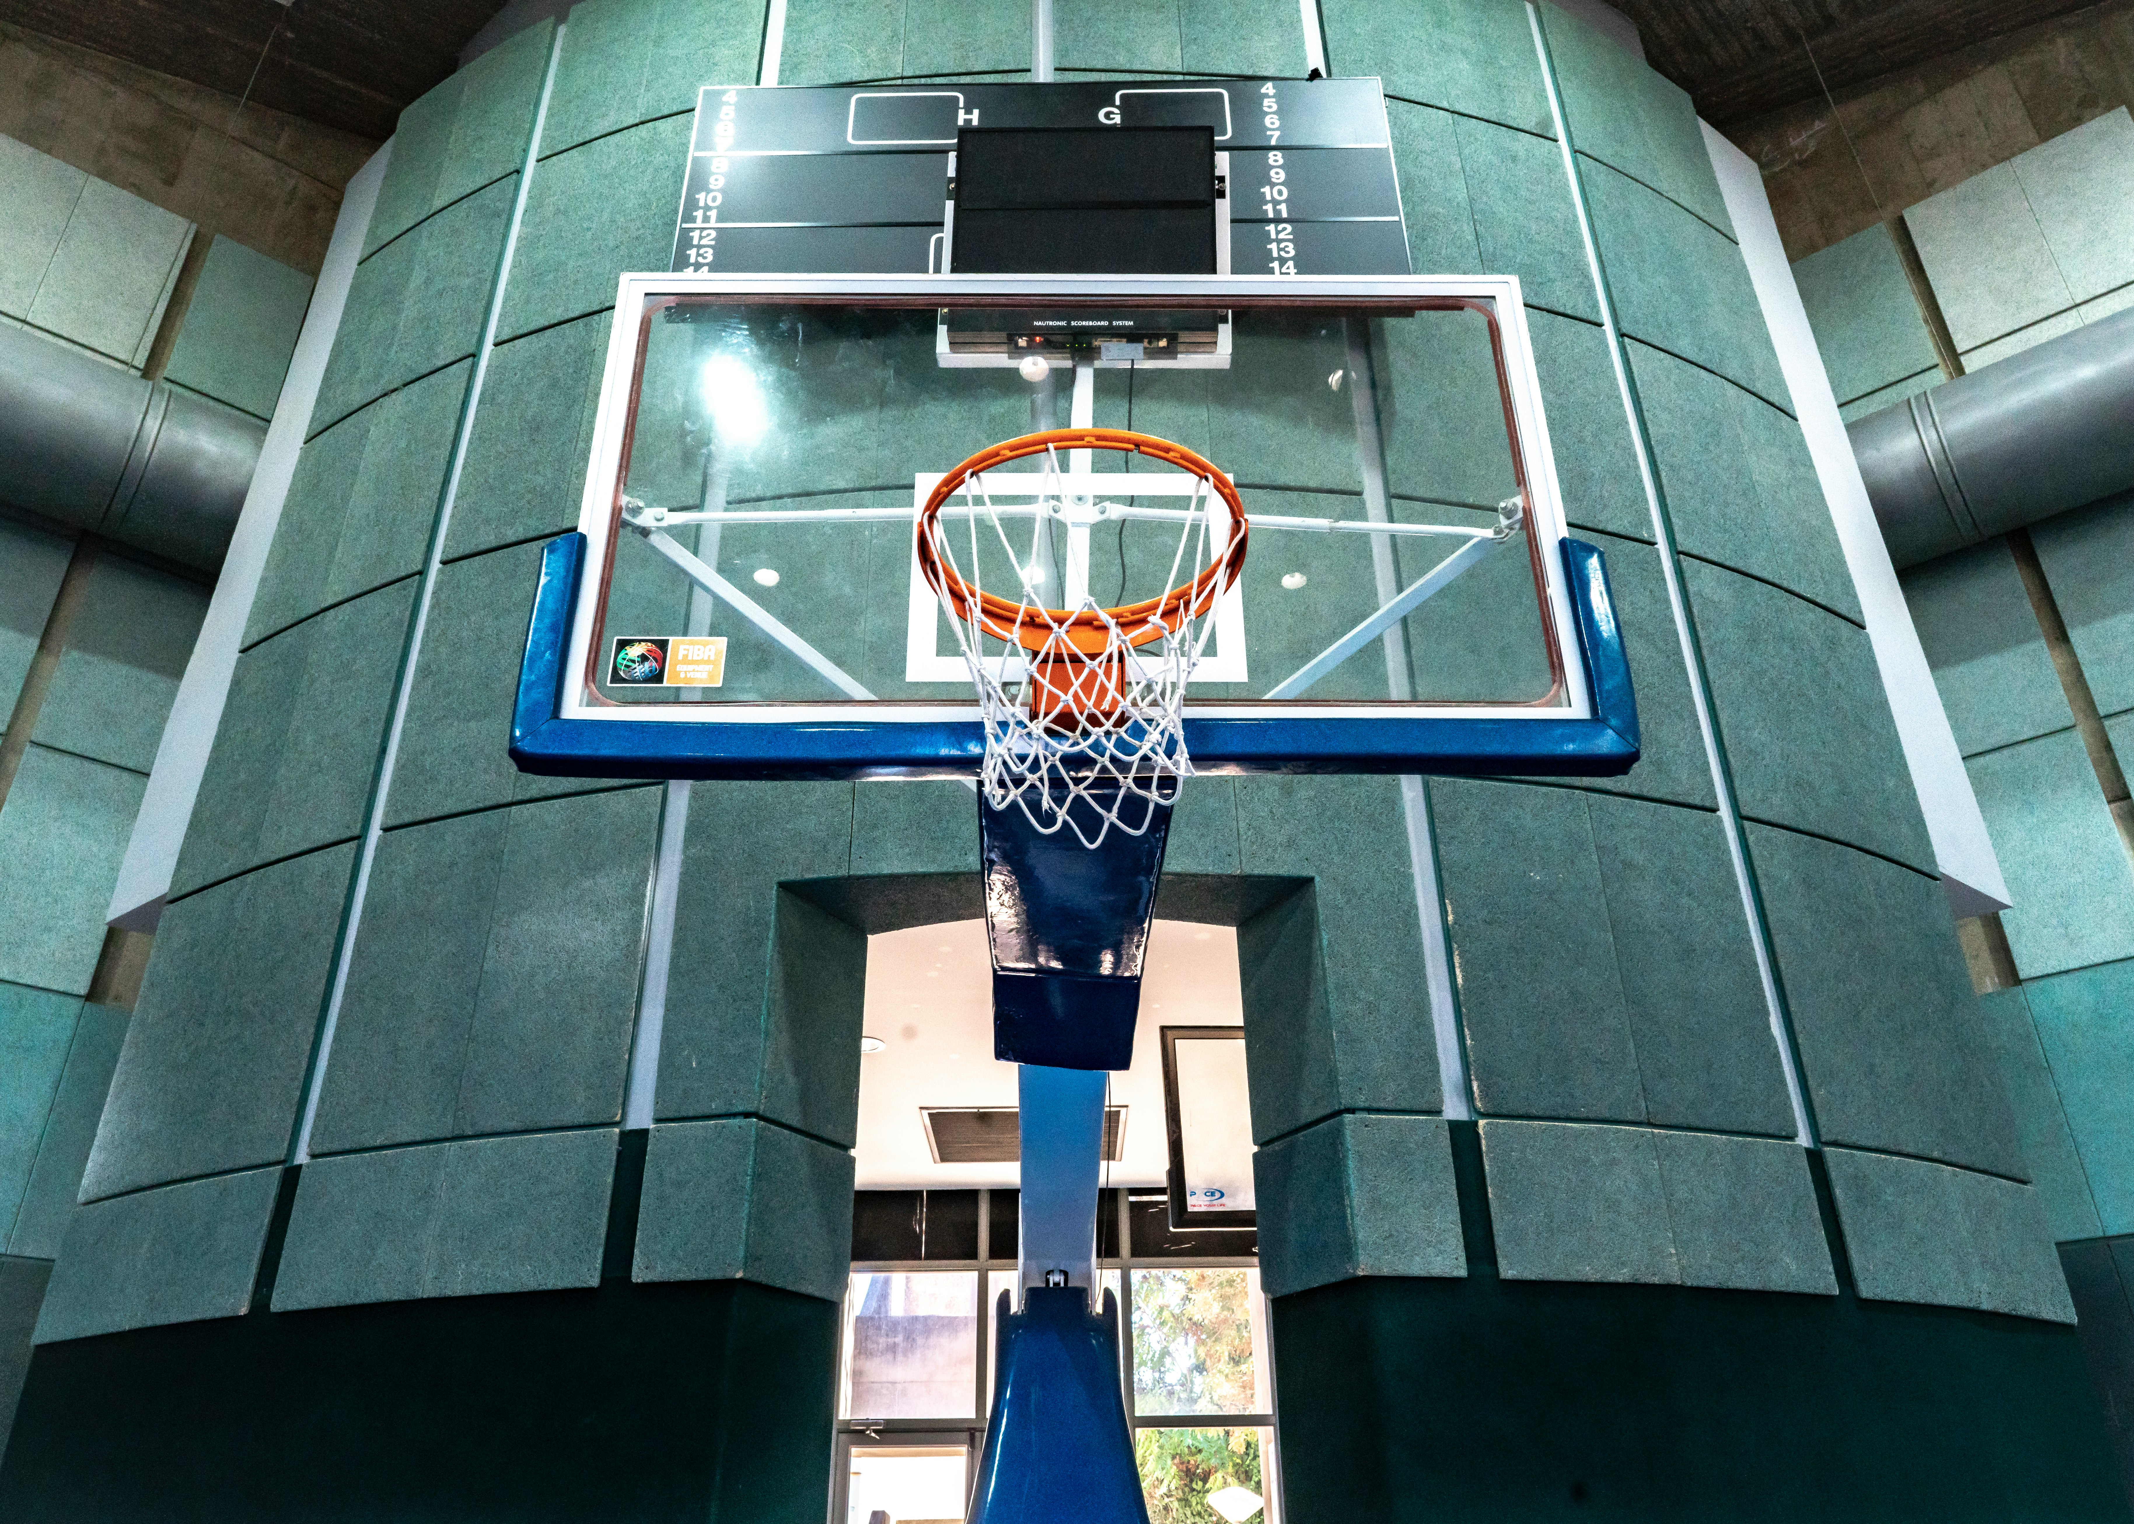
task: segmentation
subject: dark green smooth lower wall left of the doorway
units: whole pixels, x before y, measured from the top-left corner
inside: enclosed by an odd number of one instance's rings
[[[837,1306],[740,1281],[41,1345],[9,1524],[822,1524]]]

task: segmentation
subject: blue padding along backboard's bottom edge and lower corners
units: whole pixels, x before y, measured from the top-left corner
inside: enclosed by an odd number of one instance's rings
[[[1637,696],[1600,551],[1564,540],[1564,572],[1592,719],[1383,717],[1321,719],[1300,707],[1268,719],[1187,719],[1195,773],[1453,773],[1620,777],[1637,762]],[[792,719],[674,724],[563,719],[563,655],[585,563],[585,536],[542,551],[512,762],[548,777],[849,779],[973,777],[986,753],[977,719],[954,724]]]

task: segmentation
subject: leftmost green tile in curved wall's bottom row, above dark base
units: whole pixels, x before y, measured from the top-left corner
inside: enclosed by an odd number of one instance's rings
[[[252,1304],[282,1170],[166,1185],[75,1212],[36,1343],[237,1317]]]

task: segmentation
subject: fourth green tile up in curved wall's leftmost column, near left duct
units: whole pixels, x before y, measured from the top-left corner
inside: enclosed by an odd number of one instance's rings
[[[245,645],[423,570],[472,369],[425,376],[303,446]]]

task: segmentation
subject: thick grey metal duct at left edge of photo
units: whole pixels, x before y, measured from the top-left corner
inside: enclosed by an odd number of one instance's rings
[[[0,502],[213,572],[267,425],[0,324]]]

